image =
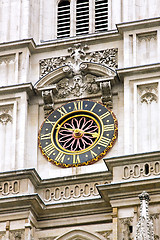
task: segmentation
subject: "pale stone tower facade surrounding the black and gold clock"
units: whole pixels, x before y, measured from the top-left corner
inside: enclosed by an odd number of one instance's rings
[[[109,0],[108,31],[65,39],[57,4],[0,1],[0,240],[136,239],[143,191],[160,239],[160,3]],[[59,168],[38,131],[78,99],[111,108],[118,139],[92,165]]]

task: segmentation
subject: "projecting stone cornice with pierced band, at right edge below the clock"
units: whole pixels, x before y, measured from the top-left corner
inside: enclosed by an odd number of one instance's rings
[[[153,163],[153,159],[156,163],[156,174],[150,176],[150,169],[148,169],[149,164]],[[136,205],[138,204],[138,199],[136,196],[140,192],[146,190],[147,192],[152,192],[152,201],[156,201],[159,192],[160,175],[158,169],[158,162],[160,161],[160,152],[151,152],[143,154],[134,154],[129,156],[121,156],[114,158],[104,159],[109,171],[113,174],[113,180],[111,183],[98,185],[97,188],[100,195],[107,202],[110,201],[113,207],[118,206],[128,206],[128,204]],[[139,178],[129,178],[123,179],[124,167],[128,165],[137,165],[147,162],[146,176]],[[153,170],[153,168],[152,168]],[[116,174],[119,174],[119,178]],[[145,169],[144,169],[145,171]],[[121,178],[122,176],[122,178]],[[132,200],[131,200],[132,199]],[[153,200],[154,199],[154,200]]]

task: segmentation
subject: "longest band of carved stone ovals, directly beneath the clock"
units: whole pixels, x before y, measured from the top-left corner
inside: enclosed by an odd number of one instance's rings
[[[44,201],[45,202],[57,202],[57,201],[68,201],[76,200],[80,198],[97,197],[99,193],[96,185],[100,183],[84,183],[62,187],[47,188],[44,190]]]

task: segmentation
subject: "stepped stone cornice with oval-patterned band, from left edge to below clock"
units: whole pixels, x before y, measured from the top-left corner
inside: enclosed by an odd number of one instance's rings
[[[106,212],[109,206],[101,199],[96,185],[109,182],[110,178],[106,172],[45,180],[34,169],[1,173],[0,212],[4,208],[12,212],[18,206],[23,209],[30,206],[35,215],[43,212],[43,217],[48,217],[48,211],[54,217],[59,217],[60,212],[64,216],[71,212],[72,215]]]

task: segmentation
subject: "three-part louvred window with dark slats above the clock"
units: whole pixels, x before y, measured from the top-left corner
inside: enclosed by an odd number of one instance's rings
[[[58,4],[57,37],[108,30],[108,0],[62,0]]]

